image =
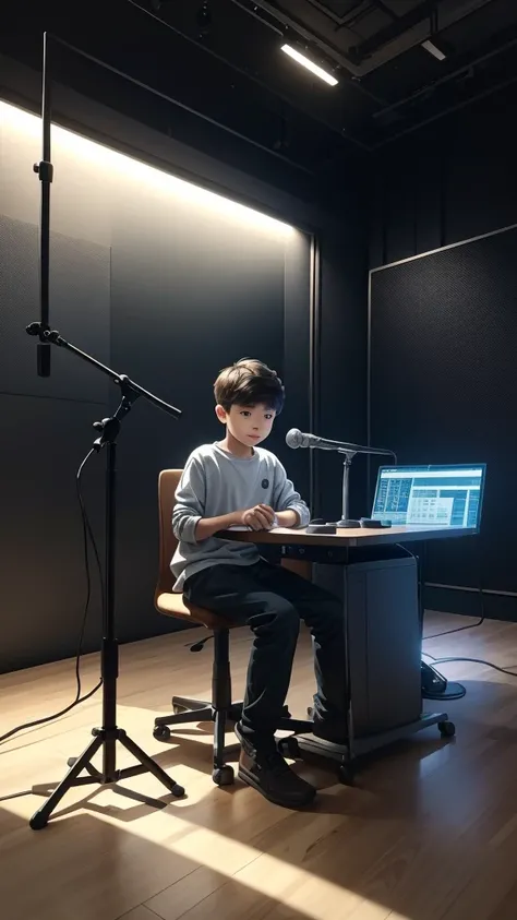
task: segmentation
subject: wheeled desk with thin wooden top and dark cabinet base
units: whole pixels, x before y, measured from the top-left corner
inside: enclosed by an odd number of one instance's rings
[[[288,558],[299,555],[315,563],[314,581],[340,597],[348,741],[336,745],[304,736],[298,739],[298,746],[337,761],[344,781],[349,781],[353,761],[361,754],[434,725],[443,737],[454,734],[446,713],[422,713],[418,567],[404,546],[477,533],[465,527],[407,526],[338,529],[336,535],[284,527],[229,529],[218,535],[227,540],[276,545]],[[365,552],[361,552],[363,548]],[[294,748],[287,750],[293,752]]]

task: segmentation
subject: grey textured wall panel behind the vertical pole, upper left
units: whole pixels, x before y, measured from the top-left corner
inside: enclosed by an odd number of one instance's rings
[[[62,348],[52,350],[48,379],[36,374],[36,338],[25,326],[39,320],[38,228],[0,215],[0,392],[103,403],[107,379]],[[52,234],[50,324],[105,363],[109,360],[110,252]]]

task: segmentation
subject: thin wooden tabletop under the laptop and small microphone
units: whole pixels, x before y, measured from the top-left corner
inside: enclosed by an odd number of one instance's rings
[[[407,543],[424,540],[450,539],[452,537],[471,537],[478,530],[474,527],[426,527],[408,525],[406,527],[386,527],[381,530],[360,527],[358,529],[338,529],[337,534],[308,534],[305,529],[290,530],[275,527],[274,530],[221,530],[218,536],[225,540],[243,540],[249,543],[312,545],[312,546],[372,546],[374,543]]]

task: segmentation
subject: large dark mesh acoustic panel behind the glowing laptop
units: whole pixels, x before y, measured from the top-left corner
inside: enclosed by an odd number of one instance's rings
[[[488,464],[480,538],[430,543],[426,581],[515,592],[517,229],[371,282],[372,443],[402,464]]]

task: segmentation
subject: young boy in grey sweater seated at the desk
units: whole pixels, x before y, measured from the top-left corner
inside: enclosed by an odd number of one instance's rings
[[[278,458],[258,446],[284,406],[281,381],[266,365],[241,360],[214,386],[226,437],[197,447],[176,493],[171,562],[175,590],[187,601],[248,624],[254,633],[242,720],[239,777],[287,808],[308,804],[315,789],[290,769],[275,744],[292,669],[300,619],[314,637],[317,693],[314,733],[345,736],[345,650],[339,601],[292,572],[261,559],[254,543],[221,540],[225,528],[305,527],[309,509]]]

